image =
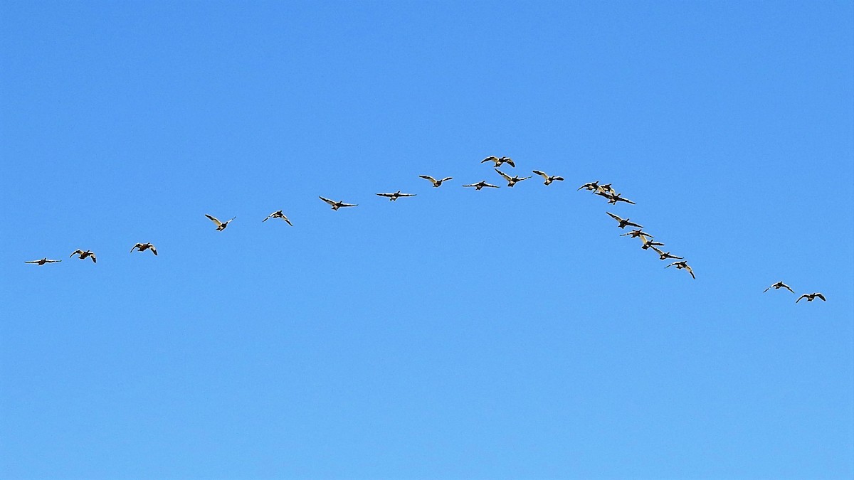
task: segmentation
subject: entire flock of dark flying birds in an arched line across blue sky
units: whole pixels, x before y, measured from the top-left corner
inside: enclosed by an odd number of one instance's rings
[[[499,170],[499,167],[501,167],[505,163],[507,165],[509,165],[510,167],[514,167],[514,168],[516,167],[516,164],[512,161],[512,159],[510,157],[488,156],[488,157],[484,158],[483,161],[481,161],[481,163],[486,163],[488,161],[491,161],[493,163],[493,167],[494,167],[495,172],[498,173],[502,179],[506,180],[508,187],[512,188],[515,184],[518,184],[519,182],[522,182],[524,180],[532,178],[531,176],[519,177],[518,175],[514,175],[511,177],[510,175],[507,175],[506,173],[501,172]],[[533,170],[532,173],[535,173],[536,175],[541,176],[543,179],[543,184],[545,184],[545,185],[550,185],[553,182],[564,180],[563,177],[560,177],[558,175],[549,175],[548,173],[542,172],[541,170]],[[433,177],[430,177],[430,175],[418,175],[418,177],[430,181],[430,183],[433,184],[434,188],[438,188],[438,187],[442,186],[442,184],[444,182],[447,182],[447,180],[453,179],[453,177],[445,177],[443,179],[435,179]],[[486,180],[481,180],[480,182],[477,182],[476,184],[466,184],[463,186],[474,188],[475,190],[482,190],[484,188],[500,188],[499,185],[489,184]],[[578,187],[577,190],[590,190],[590,191],[594,192],[595,195],[605,197],[605,199],[607,199],[608,203],[611,205],[616,205],[618,202],[625,202],[625,203],[629,203],[631,205],[635,205],[635,202],[632,202],[628,198],[623,197],[623,194],[617,193],[617,190],[614,190],[613,187],[611,187],[611,184],[599,184],[598,180],[595,182],[589,182],[587,184],[582,184],[582,186]],[[416,196],[416,194],[414,194],[414,193],[401,193],[401,190],[397,190],[395,192],[377,193],[377,196],[383,196],[385,198],[388,198],[390,202],[395,202],[398,198],[407,197],[407,196]],[[326,198],[324,196],[320,196],[319,198],[320,198],[320,200],[323,200],[324,202],[329,204],[333,210],[337,210],[339,208],[348,208],[348,207],[358,207],[359,206],[358,203],[347,203],[347,202],[343,202],[343,201],[335,201],[335,200],[331,200],[329,198]],[[658,249],[658,247],[663,247],[664,243],[656,241],[655,237],[653,237],[651,234],[647,233],[646,231],[643,231],[643,225],[639,225],[639,224],[631,221],[629,218],[623,219],[616,214],[611,214],[611,212],[605,212],[605,213],[608,214],[609,216],[611,216],[612,219],[617,220],[617,227],[619,227],[621,229],[625,229],[625,227],[627,227],[627,226],[635,227],[634,230],[629,231],[627,233],[623,233],[622,235],[620,235],[620,237],[629,236],[632,238],[640,238],[640,242],[641,242],[640,248],[641,249],[644,249],[644,250],[652,249],[653,251],[655,251],[655,253],[658,254],[658,258],[660,260],[676,260],[676,261],[670,263],[670,265],[665,266],[664,268],[670,268],[670,266],[676,266],[676,270],[686,270],[688,273],[691,274],[691,278],[697,278],[694,275],[693,268],[691,268],[691,266],[689,266],[687,264],[687,260],[685,260],[683,257],[673,255],[670,252],[665,252],[662,249]],[[213,215],[205,214],[205,216],[208,217],[208,220],[211,220],[214,225],[216,225],[217,231],[224,231],[225,228],[228,227],[228,224],[230,224],[232,220],[235,220],[237,218],[237,217],[231,217],[231,219],[229,219],[229,220],[220,221],[218,218],[214,217]],[[287,223],[288,225],[294,226],[294,224],[292,224],[290,222],[290,220],[282,212],[282,210],[277,210],[277,211],[273,212],[272,214],[267,215],[266,219],[261,220],[261,221],[266,222],[267,220],[270,220],[270,219],[281,219],[285,223]],[[157,249],[151,243],[136,243],[135,245],[133,245],[131,252],[134,252],[134,251],[144,252],[145,250],[151,250],[152,254],[157,255]],[[73,257],[74,255],[78,255],[79,260],[85,260],[88,258],[88,259],[92,260],[92,263],[97,263],[97,257],[95,255],[95,253],[92,252],[91,250],[76,249],[73,251],[73,253],[71,255],[69,255],[69,258]],[[26,261],[24,263],[32,263],[32,264],[35,264],[38,266],[42,266],[42,265],[45,265],[48,263],[57,263],[57,262],[61,262],[61,261],[62,260],[50,260],[47,257],[44,257],[40,260],[29,260],[29,261]],[[765,289],[763,291],[768,291],[772,288],[775,290],[780,290],[781,288],[784,288],[784,289],[789,290],[792,293],[794,293],[794,290],[792,290],[787,284],[784,284],[783,282],[777,282],[777,283],[769,286],[767,289]],[[806,301],[813,301],[816,298],[820,298],[820,299],[822,299],[822,301],[827,301],[827,299],[821,293],[816,292],[816,293],[804,294],[802,296],[799,296],[798,300],[796,300],[795,303],[798,303],[798,301],[801,301],[804,298],[806,299]]]

